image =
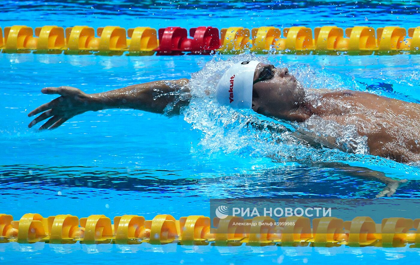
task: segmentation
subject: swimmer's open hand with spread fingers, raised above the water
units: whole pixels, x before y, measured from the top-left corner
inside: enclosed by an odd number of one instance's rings
[[[76,115],[95,110],[92,94],[86,94],[76,87],[45,87],[42,88],[41,92],[44,94],[58,94],[60,97],[29,112],[28,117],[42,113],[29,123],[29,128],[40,121],[50,118],[39,130],[55,129]]]

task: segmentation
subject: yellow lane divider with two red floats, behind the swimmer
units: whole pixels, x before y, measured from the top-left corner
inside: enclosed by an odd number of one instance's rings
[[[230,27],[219,30],[213,27],[121,28],[105,26],[96,29],[89,26],[28,26],[0,28],[0,49],[6,53],[61,53],[101,55],[181,55],[191,54],[238,54],[251,51],[260,54],[399,54],[419,53],[420,26],[401,28],[386,26],[376,31],[368,26],[339,28],[323,26],[311,28]],[[96,34],[96,35],[95,35]]]

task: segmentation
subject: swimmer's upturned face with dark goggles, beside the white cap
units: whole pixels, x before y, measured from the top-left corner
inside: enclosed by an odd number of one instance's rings
[[[303,101],[304,90],[287,68],[260,63],[254,73],[252,110],[264,115],[290,111]]]

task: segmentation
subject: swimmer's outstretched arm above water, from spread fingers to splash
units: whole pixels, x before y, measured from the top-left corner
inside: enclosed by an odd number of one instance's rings
[[[133,108],[163,113],[165,108],[172,104],[170,112],[177,114],[181,107],[189,104],[191,95],[188,82],[185,78],[161,80],[95,94],[86,94],[75,87],[45,87],[41,90],[42,93],[57,94],[60,97],[28,113],[29,117],[42,113],[29,123],[28,127],[31,128],[49,118],[39,129],[55,129],[68,119],[86,111],[109,108]]]

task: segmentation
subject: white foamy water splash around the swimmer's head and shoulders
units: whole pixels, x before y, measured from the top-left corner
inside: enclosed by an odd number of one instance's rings
[[[304,123],[290,123],[261,116],[251,110],[235,111],[215,103],[215,87],[226,69],[236,62],[253,59],[270,63],[267,57],[255,57],[252,54],[241,54],[227,60],[214,57],[199,72],[192,74],[189,83],[192,99],[189,107],[184,110],[184,119],[194,129],[203,132],[199,142],[200,152],[269,157],[274,162],[302,164],[345,162],[376,169],[383,167],[386,172],[394,173],[397,177],[420,175],[420,169],[415,165],[404,165],[370,155],[367,137],[358,135],[355,126],[341,126],[315,116]],[[280,62],[280,65],[285,64]],[[363,89],[350,77],[331,75],[308,65],[297,64],[289,69],[291,73],[297,74],[298,80],[305,87]],[[333,137],[335,146],[341,150],[302,140],[299,137],[299,131],[302,130]],[[384,171],[383,168],[381,171]]]

